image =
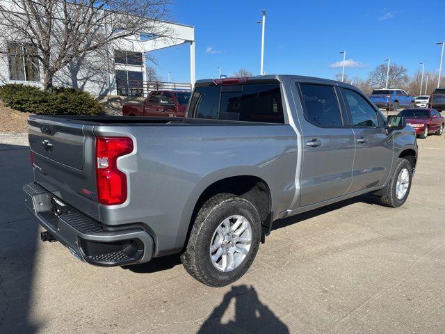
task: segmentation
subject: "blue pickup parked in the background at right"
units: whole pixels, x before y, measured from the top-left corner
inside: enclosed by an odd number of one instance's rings
[[[398,111],[400,107],[412,108],[415,105],[414,97],[403,89],[375,89],[369,98],[378,108],[388,111]]]

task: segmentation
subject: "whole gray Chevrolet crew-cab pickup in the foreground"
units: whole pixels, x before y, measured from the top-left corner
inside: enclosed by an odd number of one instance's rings
[[[363,193],[399,207],[414,129],[348,84],[269,75],[197,81],[186,118],[30,116],[25,202],[99,266],[180,253],[213,287],[248,270],[273,222]]]

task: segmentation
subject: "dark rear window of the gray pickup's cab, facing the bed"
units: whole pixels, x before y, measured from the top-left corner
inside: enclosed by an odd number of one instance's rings
[[[197,87],[188,117],[284,123],[280,84]]]

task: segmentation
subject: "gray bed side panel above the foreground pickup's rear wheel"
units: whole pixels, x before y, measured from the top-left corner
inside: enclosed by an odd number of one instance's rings
[[[95,128],[101,136],[131,134],[135,151],[120,157],[129,198],[99,207],[102,222],[144,223],[155,256],[184,246],[195,204],[213,182],[252,175],[268,184],[272,210],[288,209],[295,194],[296,133],[290,125],[153,125]]]

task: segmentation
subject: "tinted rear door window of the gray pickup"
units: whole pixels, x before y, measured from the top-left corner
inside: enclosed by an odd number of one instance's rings
[[[341,127],[337,95],[332,86],[300,84],[305,117],[319,127]]]

